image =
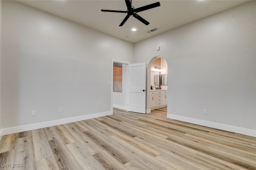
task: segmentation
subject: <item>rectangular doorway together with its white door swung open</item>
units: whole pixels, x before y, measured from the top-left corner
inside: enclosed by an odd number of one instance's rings
[[[122,75],[122,80],[120,78],[116,79],[119,83],[114,82],[116,81],[114,80],[114,67],[116,66],[119,67],[119,70],[122,70],[122,73],[118,73],[119,76]],[[129,62],[112,59],[111,72],[111,82],[109,82],[109,85],[111,85],[111,112],[113,113],[113,107],[116,107],[126,111],[146,113],[146,63],[130,64]],[[119,86],[122,84],[122,89],[115,88],[116,91],[114,91],[115,83]]]

